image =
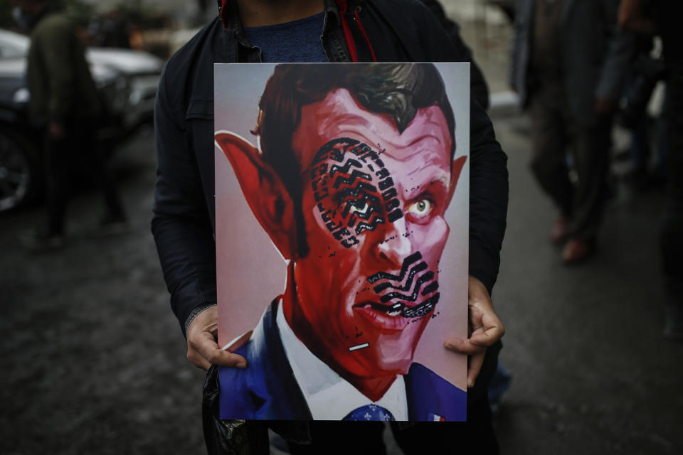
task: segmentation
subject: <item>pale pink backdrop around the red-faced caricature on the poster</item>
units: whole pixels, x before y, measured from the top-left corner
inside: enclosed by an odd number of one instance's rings
[[[214,65],[216,131],[255,144],[258,100],[275,64]],[[455,157],[470,154],[470,66],[436,63],[455,115]],[[216,148],[216,261],[218,343],[225,346],[256,326],[285,289],[285,261],[251,212],[231,165]],[[416,362],[466,390],[467,358],[443,348],[448,336],[467,336],[467,250],[470,160],[462,168],[446,212],[450,235],[440,262],[441,299],[415,352]]]

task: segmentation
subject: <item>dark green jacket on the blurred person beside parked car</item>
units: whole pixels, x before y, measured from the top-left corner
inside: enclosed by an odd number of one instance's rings
[[[75,23],[63,11],[46,11],[33,28],[26,80],[37,122],[67,124],[102,112]]]

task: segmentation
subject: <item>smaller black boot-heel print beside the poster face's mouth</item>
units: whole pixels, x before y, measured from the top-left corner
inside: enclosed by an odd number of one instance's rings
[[[404,318],[416,318],[429,314],[439,302],[440,294],[436,292],[439,289],[439,283],[431,270],[415,279],[420,272],[427,269],[427,262],[422,260],[422,255],[418,251],[403,260],[401,272],[398,275],[377,272],[368,277],[370,284],[377,283],[373,290],[380,296],[380,302],[371,303],[372,308],[388,314],[400,312]],[[395,291],[381,294],[386,289],[395,289]],[[406,291],[410,294],[402,294]],[[420,296],[428,297],[415,304]]]

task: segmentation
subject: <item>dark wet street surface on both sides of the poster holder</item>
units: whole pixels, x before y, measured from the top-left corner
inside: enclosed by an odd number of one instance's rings
[[[502,453],[683,453],[683,345],[661,335],[662,193],[619,186],[598,254],[564,267],[547,241],[556,214],[526,165],[528,125],[495,123],[511,188],[494,289],[513,375],[496,419]],[[149,233],[154,138],[112,164],[125,235],[94,235],[92,191],[70,206],[59,252],[18,245],[38,208],[0,215],[1,454],[203,453],[203,374],[185,359]]]

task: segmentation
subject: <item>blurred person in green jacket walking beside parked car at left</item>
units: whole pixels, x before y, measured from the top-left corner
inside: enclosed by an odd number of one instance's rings
[[[59,1],[19,1],[20,22],[31,32],[26,80],[31,92],[31,119],[44,135],[46,186],[45,225],[21,237],[31,249],[65,244],[65,212],[71,192],[70,173],[81,161],[90,164],[105,197],[100,232],[122,232],[127,220],[115,182],[105,171],[97,144],[97,123],[102,105],[85,61],[75,20],[60,9]]]

